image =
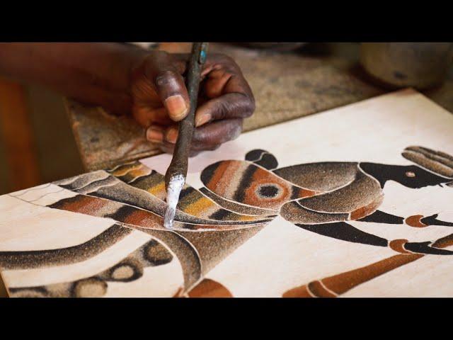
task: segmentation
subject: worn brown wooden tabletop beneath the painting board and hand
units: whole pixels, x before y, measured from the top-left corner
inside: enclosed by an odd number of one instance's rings
[[[328,53],[272,52],[212,43],[210,52],[222,52],[236,60],[256,98],[256,113],[244,123],[244,131],[263,128],[336,108],[388,90],[373,85],[357,64],[358,44],[339,44],[343,50]],[[337,45],[338,46],[338,45]],[[161,43],[168,52],[188,52],[189,43]],[[346,50],[346,52],[345,52]],[[440,89],[423,92],[453,111],[453,81]],[[144,139],[144,130],[132,118],[116,118],[102,108],[67,100],[81,160],[87,170],[103,169],[133,159],[159,154]]]

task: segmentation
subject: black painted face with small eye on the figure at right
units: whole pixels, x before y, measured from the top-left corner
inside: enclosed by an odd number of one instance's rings
[[[424,186],[436,186],[437,184],[451,181],[451,179],[437,176],[415,165],[403,166],[361,162],[359,166],[366,174],[377,179],[381,184],[381,188],[384,188],[385,182],[390,180],[413,189],[423,188]],[[408,172],[413,173],[415,176],[407,176]]]

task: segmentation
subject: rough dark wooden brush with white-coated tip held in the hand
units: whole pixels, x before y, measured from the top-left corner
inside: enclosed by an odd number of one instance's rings
[[[167,191],[167,210],[164,218],[166,228],[173,227],[176,205],[179,194],[184,186],[187,176],[190,142],[192,142],[193,129],[195,127],[195,109],[197,108],[198,89],[202,66],[206,60],[207,42],[194,42],[186,77],[186,86],[190,99],[190,111],[179,123],[178,140],[173,152],[170,166],[165,174],[165,186]]]

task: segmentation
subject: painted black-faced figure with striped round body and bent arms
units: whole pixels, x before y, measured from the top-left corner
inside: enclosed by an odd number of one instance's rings
[[[453,254],[432,242],[390,242],[348,224],[350,220],[403,224],[411,227],[452,226],[437,215],[403,217],[378,210],[386,181],[408,188],[453,186],[453,157],[424,147],[407,147],[403,157],[417,165],[368,162],[316,162],[277,168],[275,157],[253,150],[246,161],[222,161],[202,171],[212,193],[236,202],[280,212],[280,215],[317,234],[373,246],[390,246],[418,254]],[[398,244],[398,245],[396,245]]]

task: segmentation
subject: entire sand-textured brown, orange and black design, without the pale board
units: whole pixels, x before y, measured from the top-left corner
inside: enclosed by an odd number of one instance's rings
[[[50,186],[45,186],[13,193],[11,196],[14,198],[39,204],[37,202],[45,196],[71,191],[74,196],[59,198],[45,206],[110,218],[115,220],[115,224],[76,246],[40,251],[1,251],[0,265],[2,269],[17,270],[84,261],[127,236],[132,229],[137,229],[153,239],[105,271],[73,282],[10,287],[10,294],[18,297],[103,296],[108,290],[108,282],[137,280],[147,266],[169,263],[173,255],[168,247],[178,254],[185,278],[185,284],[178,288],[176,296],[230,296],[221,283],[210,279],[203,281],[203,274],[280,214],[295,227],[316,234],[370,246],[388,246],[398,253],[364,268],[314,280],[282,294],[283,297],[338,296],[355,285],[425,255],[453,254],[453,251],[444,249],[453,245],[453,233],[426,242],[388,240],[346,222],[406,223],[415,228],[453,227],[453,222],[438,220],[437,215],[405,218],[379,210],[383,188],[389,180],[413,189],[440,186],[439,190],[448,190],[453,186],[453,157],[449,154],[424,147],[408,147],[402,155],[417,165],[319,162],[278,168],[273,154],[255,149],[246,154],[245,161],[227,160],[207,166],[201,173],[204,190],[197,191],[186,185],[178,205],[178,222],[171,231],[162,227],[164,178],[139,162],[53,183],[53,186],[61,188],[59,191],[50,191]],[[25,198],[31,191],[35,191],[33,199]],[[210,193],[210,196],[203,192]],[[213,196],[218,196],[219,204],[212,199]],[[229,208],[233,210],[222,208],[220,204],[226,201],[232,203]],[[258,215],[245,215],[243,212],[258,212]]]

